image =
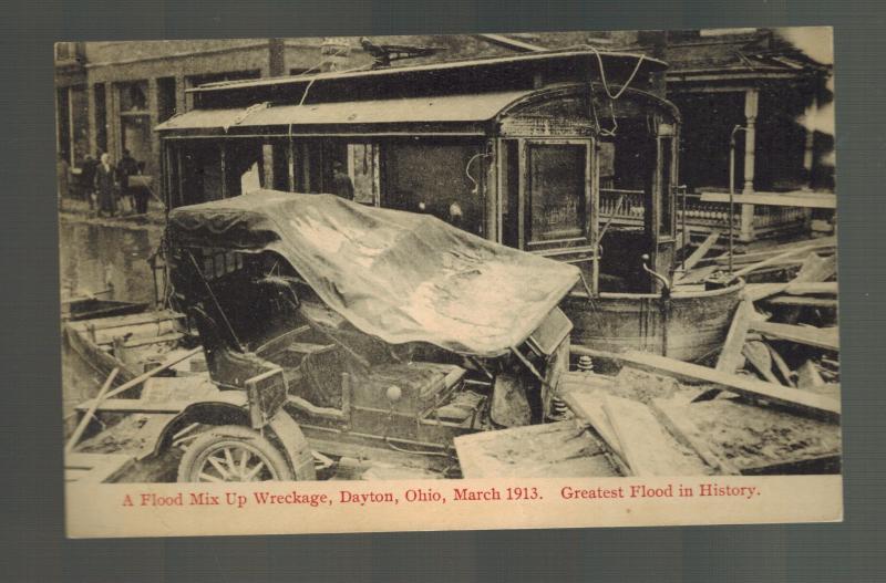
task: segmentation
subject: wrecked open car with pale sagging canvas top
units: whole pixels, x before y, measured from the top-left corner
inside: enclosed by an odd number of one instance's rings
[[[274,190],[176,208],[165,244],[217,388],[158,440],[205,428],[179,481],[310,480],[322,460],[391,454],[457,476],[454,437],[552,416],[573,266],[430,215]]]

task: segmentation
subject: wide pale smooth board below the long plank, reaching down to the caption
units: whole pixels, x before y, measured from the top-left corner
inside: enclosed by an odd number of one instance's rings
[[[678,449],[677,443],[638,400],[607,395],[604,412],[621,444],[625,460],[633,476],[703,476],[701,459],[694,464]]]

